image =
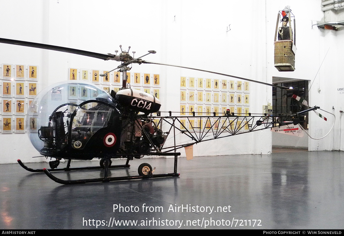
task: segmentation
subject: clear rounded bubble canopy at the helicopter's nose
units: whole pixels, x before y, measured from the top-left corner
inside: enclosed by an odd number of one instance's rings
[[[44,88],[31,102],[26,119],[26,131],[37,151],[42,150],[44,142],[38,133],[41,127],[49,126],[50,116],[56,108],[63,112],[73,112],[87,100],[113,103],[111,96],[98,86],[87,82],[64,81]]]

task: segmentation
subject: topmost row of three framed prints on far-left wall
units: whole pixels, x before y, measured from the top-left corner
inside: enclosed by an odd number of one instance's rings
[[[1,64],[1,78],[11,81],[37,81],[38,66]]]

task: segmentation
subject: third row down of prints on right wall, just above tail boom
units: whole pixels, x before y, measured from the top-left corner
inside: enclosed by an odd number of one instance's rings
[[[227,109],[229,113],[236,116],[248,116],[250,108],[246,106],[214,106],[214,105],[186,105],[180,104],[180,116],[192,116],[195,112],[196,116],[213,116],[215,112],[216,116],[225,116]]]

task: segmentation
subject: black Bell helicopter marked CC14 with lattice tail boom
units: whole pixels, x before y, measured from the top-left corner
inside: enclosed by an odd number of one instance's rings
[[[142,60],[143,56],[155,54],[156,51],[154,50],[134,58],[129,54],[129,50],[128,52],[122,50],[121,45],[121,53],[117,55],[116,52],[116,55],[114,55],[2,38],[0,38],[0,43],[37,47],[121,62],[115,69],[100,74],[100,76],[106,76],[106,74],[116,69],[122,72],[122,88],[117,93],[112,90],[108,94],[96,85],[86,82],[60,82],[43,89],[30,105],[28,119],[26,119],[26,127],[30,127],[28,130],[30,140],[42,156],[56,160],[50,161],[50,168],[44,168],[43,170],[29,168],[19,159],[18,163],[28,171],[44,172],[52,180],[61,184],[179,176],[177,166],[178,156],[181,153],[177,152],[177,150],[181,148],[192,147],[193,144],[207,140],[270,129],[275,126],[297,125],[300,122],[299,116],[301,114],[320,108],[317,106],[308,107],[308,109],[296,114],[278,116],[257,115],[248,112],[235,114],[230,112],[229,109],[224,113],[212,112],[212,115],[200,115],[197,112],[196,116],[196,112],[192,111],[187,112],[189,113],[187,116],[185,116],[186,114],[180,114],[180,112],[178,112],[179,116],[172,116],[172,111],[160,111],[161,102],[157,97],[128,86],[126,75],[127,71],[131,69],[129,67],[131,64],[174,66],[229,76],[273,87],[286,87],[202,69]],[[87,98],[87,94],[92,94],[92,99],[82,101],[80,104],[69,102],[68,91],[71,87],[73,87],[74,91],[78,90]],[[188,120],[188,127],[183,120]],[[177,143],[175,139],[177,134],[184,135],[187,140],[183,143]],[[168,140],[168,137],[171,136],[173,141]],[[140,159],[147,155],[173,156],[174,171],[172,173],[156,174],[154,173],[155,168],[152,169],[150,164],[142,163],[138,168],[139,175],[117,177],[108,175],[109,168],[129,168],[130,160]],[[71,160],[92,160],[94,158],[100,159],[99,167],[70,166]],[[126,163],[112,165],[111,159],[116,158],[126,159]],[[58,168],[62,159],[68,160],[66,168]],[[53,171],[90,169],[104,169],[104,177],[62,180],[51,173]]]

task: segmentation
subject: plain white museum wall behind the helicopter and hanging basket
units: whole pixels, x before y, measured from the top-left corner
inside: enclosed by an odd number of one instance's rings
[[[0,3],[6,6],[7,1],[0,0]],[[125,49],[130,45],[131,50],[137,52],[136,56],[156,50],[157,54],[145,58],[148,61],[208,69],[267,83],[272,82],[272,76],[281,76],[281,73],[284,77],[313,79],[332,43],[325,58],[326,66],[322,66],[313,84],[315,88],[321,86],[321,93],[312,87],[311,105],[332,109],[333,103],[335,111],[341,106],[344,109],[340,95],[336,96],[336,101],[324,101],[326,93],[334,93],[336,86],[342,86],[336,83],[340,81],[340,72],[339,68],[334,69],[334,65],[340,65],[337,61],[343,53],[343,46],[338,42],[343,33],[322,32],[317,27],[311,29],[311,20],[322,18],[320,4],[314,4],[312,0],[288,2],[298,20],[296,70],[278,72],[273,67],[276,17],[285,4],[285,1],[276,0],[250,0],[244,4],[238,1],[15,0],[0,14],[0,21],[7,25],[2,28],[1,37],[99,53],[114,53],[119,49],[118,45],[122,44]],[[229,24],[231,30],[226,32]],[[15,45],[1,44],[0,51],[0,63],[39,65],[39,89],[65,80],[69,67],[106,70],[118,65],[113,61]],[[134,65],[131,72],[160,74],[163,78],[161,110],[166,111],[179,110],[179,103],[175,101],[179,100],[180,76],[224,78],[157,65]],[[330,82],[329,87],[326,87],[327,81]],[[251,112],[260,113],[262,105],[271,102],[271,88],[259,84],[251,85],[251,88]],[[315,128],[322,127],[322,120],[315,118],[310,117],[311,124],[314,122]],[[314,136],[318,135],[317,132],[324,133],[328,127],[323,129],[316,131],[310,127]],[[339,125],[336,125],[335,132],[339,133]],[[20,148],[18,140],[21,140]],[[29,144],[27,135],[1,134],[0,143],[7,147],[7,153],[0,154],[0,163],[15,162],[18,158],[32,161],[30,157],[38,155]],[[309,146],[310,150],[330,150],[331,143],[326,139],[310,141]],[[201,143],[194,151],[195,155],[270,152],[269,130]]]

